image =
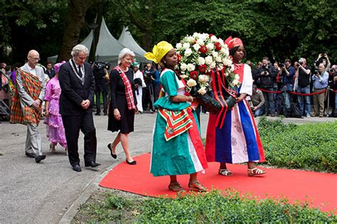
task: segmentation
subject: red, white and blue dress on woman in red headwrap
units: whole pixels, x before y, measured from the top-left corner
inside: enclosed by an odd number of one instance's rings
[[[239,93],[252,95],[252,71],[249,65],[235,65],[240,76]],[[210,114],[206,137],[207,161],[237,164],[265,161],[259,132],[250,105],[246,100],[235,104],[225,115],[223,127],[216,125],[217,114]]]

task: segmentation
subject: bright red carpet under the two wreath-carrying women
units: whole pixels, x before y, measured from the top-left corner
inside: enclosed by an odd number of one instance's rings
[[[109,171],[100,186],[114,188],[144,196],[175,196],[168,190],[169,176],[154,177],[149,173],[150,154],[134,157],[136,166],[125,161]],[[314,207],[331,211],[337,208],[337,174],[321,174],[311,171],[267,169],[265,176],[247,176],[247,166],[228,164],[234,176],[218,175],[218,163],[209,163],[205,174],[198,174],[200,183],[208,189],[234,188],[241,193],[251,193],[260,198],[289,198],[289,202],[313,202]],[[181,186],[188,189],[188,175],[178,176]]]

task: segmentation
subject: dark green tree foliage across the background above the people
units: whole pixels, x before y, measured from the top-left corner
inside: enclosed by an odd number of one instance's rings
[[[223,39],[242,38],[248,58],[255,61],[265,55],[279,61],[304,57],[312,65],[323,52],[328,53],[331,63],[336,63],[337,1],[333,0],[0,1],[0,57],[6,55],[6,46],[13,48],[13,57],[28,48],[41,50],[41,57],[59,53],[64,38],[69,36],[65,31],[71,30],[74,23],[82,28],[82,36],[86,36],[90,30],[82,17],[80,21],[69,18],[73,2],[85,3],[83,16],[97,13],[100,9],[97,4],[102,4],[100,13],[112,35],[118,38],[122,27],[129,26],[145,50],[151,50],[158,41],[166,40],[174,45],[187,34],[205,32]],[[87,11],[91,5],[95,9]],[[72,25],[69,21],[73,21]],[[63,50],[81,41],[78,32]],[[22,35],[25,38],[21,44],[16,36],[22,41]]]

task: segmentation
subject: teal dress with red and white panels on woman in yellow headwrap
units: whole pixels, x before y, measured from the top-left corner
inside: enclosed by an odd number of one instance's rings
[[[170,97],[184,95],[185,85],[173,70],[161,73],[165,97],[154,104],[158,108],[151,152],[154,176],[193,174],[208,167],[196,113],[189,102],[171,102]]]

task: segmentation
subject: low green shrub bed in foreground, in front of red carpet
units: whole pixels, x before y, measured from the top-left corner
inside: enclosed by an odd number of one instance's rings
[[[171,198],[148,198],[139,206],[137,223],[336,223],[333,213],[291,205],[286,199],[258,200],[235,191],[194,193]]]

